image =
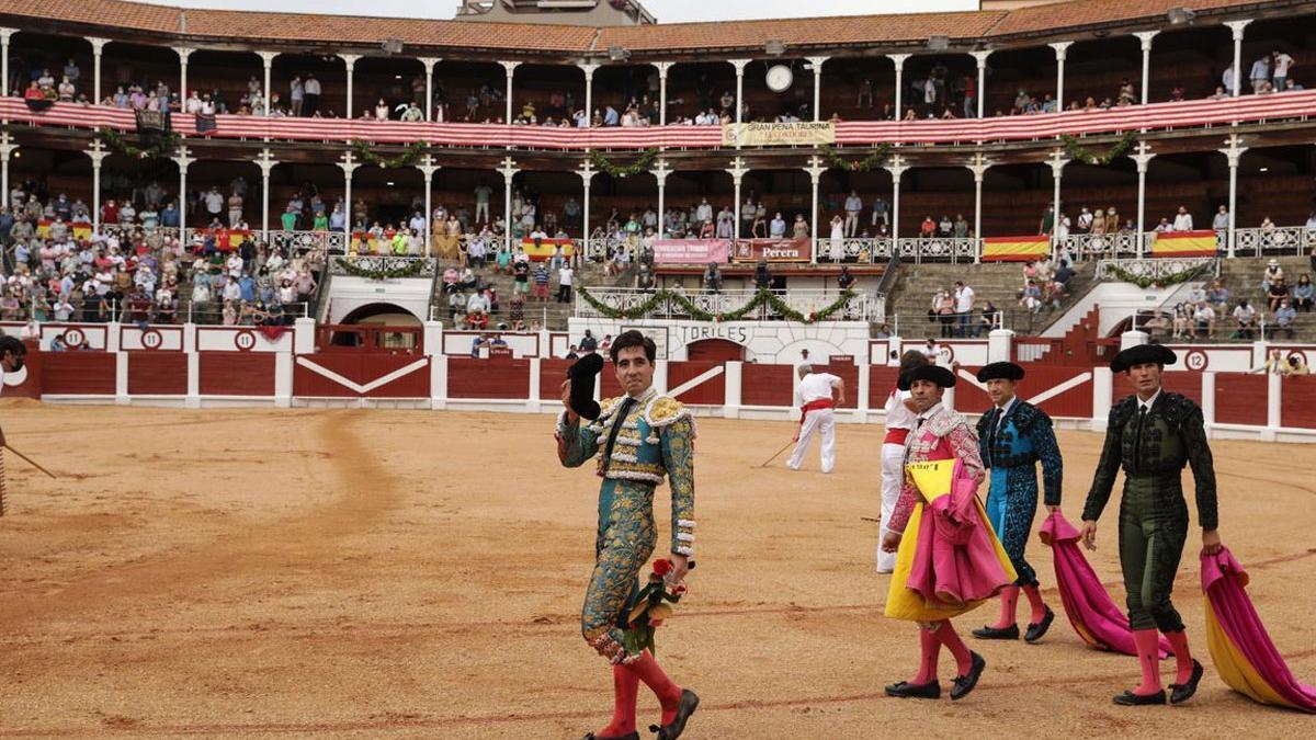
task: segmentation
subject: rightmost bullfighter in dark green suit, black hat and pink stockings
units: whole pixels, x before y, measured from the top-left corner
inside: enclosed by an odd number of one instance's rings
[[[1142,683],[1115,697],[1115,703],[1124,706],[1163,704],[1166,700],[1157,631],[1174,648],[1177,672],[1170,683],[1170,703],[1187,702],[1202,681],[1202,664],[1192,660],[1183,620],[1170,602],[1188,535],[1188,506],[1179,479],[1184,465],[1192,466],[1202,549],[1215,554],[1221,548],[1216,531],[1216,474],[1202,408],[1161,387],[1165,366],[1174,362],[1174,352],[1157,344],[1130,346],[1111,361],[1112,371],[1128,374],[1134,395],[1111,408],[1101,458],[1083,507],[1083,545],[1092,550],[1096,549],[1096,520],[1111,498],[1116,473],[1124,467],[1120,569],[1128,596],[1129,628],[1142,668]]]

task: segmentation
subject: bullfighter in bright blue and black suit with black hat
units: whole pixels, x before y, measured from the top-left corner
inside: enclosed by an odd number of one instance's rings
[[[1023,590],[1032,606],[1032,618],[1024,640],[1036,643],[1050,628],[1055,612],[1042,603],[1037,590],[1037,573],[1024,558],[1024,548],[1037,514],[1037,462],[1042,463],[1042,502],[1048,511],[1061,506],[1063,462],[1055,444],[1051,417],[1015,395],[1015,384],[1024,379],[1024,369],[1013,362],[992,362],[978,371],[978,381],[987,384],[992,408],[978,420],[978,445],[983,465],[991,469],[987,492],[987,517],[1000,537],[1019,579],[1001,591],[1000,620],[991,627],[974,629],[984,640],[1017,640],[1019,624],[1015,607]]]

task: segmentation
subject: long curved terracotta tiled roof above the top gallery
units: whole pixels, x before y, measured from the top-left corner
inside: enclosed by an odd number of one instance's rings
[[[1288,3],[1277,3],[1287,5]],[[923,42],[944,34],[953,41],[978,41],[1036,34],[1084,25],[1163,24],[1169,9],[1194,11],[1255,7],[1255,0],[1073,0],[1017,11],[907,13],[782,18],[733,22],[658,24],[590,28],[553,24],[470,22],[416,18],[375,18],[245,11],[186,11],[187,36],[225,40],[376,45],[396,38],[404,43],[447,49],[494,49],[520,53],[582,54],[624,46],[633,51],[761,50],[766,41],[788,46],[892,45]],[[121,28],[176,38],[184,12],[179,8],[125,0],[0,0],[0,14]],[[21,26],[20,26],[21,28]],[[172,38],[168,38],[172,40]],[[166,40],[162,40],[166,41]]]

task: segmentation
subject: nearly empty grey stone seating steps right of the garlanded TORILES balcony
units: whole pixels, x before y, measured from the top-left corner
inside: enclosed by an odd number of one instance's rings
[[[1069,302],[1082,296],[1095,283],[1096,263],[1080,262],[1075,266],[1074,278],[1069,284]],[[900,265],[896,284],[887,296],[887,323],[901,337],[936,337],[941,325],[928,321],[932,296],[938,290],[953,290],[955,280],[963,280],[974,290],[976,307],[987,300],[1005,313],[1005,328],[1020,334],[1038,334],[1063,313],[1063,309],[1029,315],[1020,308],[1019,291],[1024,287],[1024,266],[1019,262],[983,265],[946,265],[925,262]],[[899,316],[899,319],[896,319]]]

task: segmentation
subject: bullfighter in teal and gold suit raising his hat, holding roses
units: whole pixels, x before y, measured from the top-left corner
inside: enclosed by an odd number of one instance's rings
[[[655,346],[640,332],[624,332],[609,348],[617,381],[626,395],[607,399],[597,419],[582,423],[579,406],[563,384],[567,411],[558,420],[558,458],[579,467],[597,456],[599,527],[595,566],[586,593],[580,629],[586,641],[613,664],[612,723],[587,739],[638,740],[636,694],[644,681],[662,704],[659,740],[674,740],[699,706],[658,666],[647,650],[624,647],[628,615],[640,589],[640,571],[658,540],[654,487],[666,475],[671,486],[671,562],[667,583],[675,586],[694,564],[695,424],[680,403],[653,387]],[[592,386],[592,375],[590,377]],[[601,453],[601,454],[600,454]]]

